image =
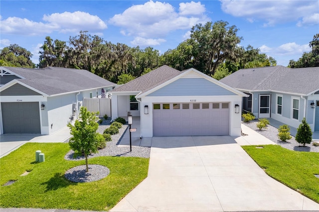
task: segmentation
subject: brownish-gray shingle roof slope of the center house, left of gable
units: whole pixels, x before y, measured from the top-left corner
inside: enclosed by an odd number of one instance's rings
[[[118,88],[112,92],[147,92],[156,86],[170,80],[177,75],[180,71],[170,68],[169,66],[163,65],[160,68],[157,68],[141,77],[138,77]],[[142,94],[141,93],[141,94]]]

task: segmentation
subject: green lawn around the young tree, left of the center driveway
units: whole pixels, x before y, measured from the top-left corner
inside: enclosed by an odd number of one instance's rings
[[[35,151],[45,153],[45,162],[35,163]],[[68,169],[85,161],[67,161],[67,143],[27,143],[0,159],[0,207],[104,211],[113,208],[148,175],[149,159],[96,157],[110,174],[96,182],[72,183],[64,178]],[[32,170],[26,176],[20,176]],[[2,186],[16,180],[10,186]]]

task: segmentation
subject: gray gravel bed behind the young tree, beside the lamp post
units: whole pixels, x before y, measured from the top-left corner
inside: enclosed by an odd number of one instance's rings
[[[97,132],[103,134],[103,131],[110,127],[111,119],[103,120],[102,124],[99,125]],[[119,156],[119,157],[141,157],[141,158],[150,158],[151,147],[142,147],[142,146],[132,146],[132,152],[130,152],[129,146],[118,146],[119,140],[127,130],[128,125],[124,124],[122,128],[119,129],[119,133],[111,135],[112,141],[106,142],[106,147],[100,149],[98,153],[93,153],[88,156],[88,158],[99,157],[99,156]],[[65,142],[68,142],[66,140]],[[64,158],[66,160],[84,160],[85,157],[73,158],[73,150],[70,150]]]

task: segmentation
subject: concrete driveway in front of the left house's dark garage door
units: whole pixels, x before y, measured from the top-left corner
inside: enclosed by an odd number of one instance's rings
[[[0,158],[19,148],[27,142],[61,143],[70,137],[70,128],[64,127],[51,135],[0,135]]]

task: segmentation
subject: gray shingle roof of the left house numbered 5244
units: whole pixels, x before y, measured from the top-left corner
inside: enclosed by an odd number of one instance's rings
[[[5,68],[25,78],[16,79],[17,81],[49,96],[116,85],[87,70],[58,67],[44,69]]]

